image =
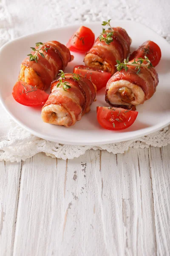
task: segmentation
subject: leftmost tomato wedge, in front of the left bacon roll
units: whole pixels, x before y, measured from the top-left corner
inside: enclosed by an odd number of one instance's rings
[[[13,87],[12,96],[22,105],[37,107],[44,105],[49,95],[23,81],[17,81]]]

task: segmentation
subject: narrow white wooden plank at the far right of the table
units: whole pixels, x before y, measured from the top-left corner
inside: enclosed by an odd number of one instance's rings
[[[150,177],[158,255],[170,254],[170,145],[150,148]]]

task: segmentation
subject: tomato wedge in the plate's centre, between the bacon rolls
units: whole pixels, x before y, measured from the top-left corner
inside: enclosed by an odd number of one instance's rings
[[[97,90],[105,87],[108,80],[111,78],[111,73],[109,72],[102,70],[93,70],[83,65],[75,66],[73,73],[82,75],[85,78],[90,79],[92,83],[96,85]]]

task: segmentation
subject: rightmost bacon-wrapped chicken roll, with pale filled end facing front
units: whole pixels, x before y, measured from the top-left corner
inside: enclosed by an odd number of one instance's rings
[[[127,71],[122,69],[116,72],[108,81],[105,101],[113,107],[136,110],[136,105],[153,96],[159,78],[153,67],[140,67],[140,72],[136,66],[127,65],[127,68]]]

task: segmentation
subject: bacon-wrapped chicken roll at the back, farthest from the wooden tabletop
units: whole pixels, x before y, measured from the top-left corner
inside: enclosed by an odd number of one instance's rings
[[[125,29],[121,27],[113,28],[113,41],[107,44],[98,37],[94,46],[87,52],[84,62],[87,67],[108,71],[112,75],[116,72],[116,60],[123,61],[130,51],[131,39]],[[106,30],[104,37],[111,30]]]

